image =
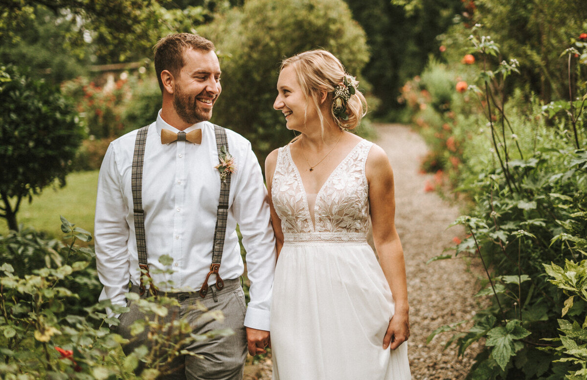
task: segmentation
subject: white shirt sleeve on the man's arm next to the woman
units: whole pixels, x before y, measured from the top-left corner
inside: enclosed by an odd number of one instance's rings
[[[251,282],[245,326],[269,331],[269,312],[275,273],[275,235],[271,227],[269,199],[261,167],[248,145],[244,160],[238,162],[239,181],[235,186],[232,213],[247,250],[247,277]]]

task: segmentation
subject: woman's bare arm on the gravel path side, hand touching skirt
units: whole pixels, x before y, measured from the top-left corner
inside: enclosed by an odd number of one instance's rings
[[[365,172],[369,182],[373,242],[395,301],[395,313],[387,326],[383,348],[389,345],[394,350],[410,336],[406,264],[394,222],[396,203],[392,165],[377,145],[373,145],[369,152]]]

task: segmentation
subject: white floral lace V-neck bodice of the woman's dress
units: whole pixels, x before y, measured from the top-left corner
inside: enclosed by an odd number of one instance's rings
[[[289,145],[279,149],[271,197],[275,212],[281,219],[285,240],[365,239],[369,229],[369,185],[365,162],[373,143],[360,141],[330,173],[316,194],[312,214],[302,177],[291,157]]]

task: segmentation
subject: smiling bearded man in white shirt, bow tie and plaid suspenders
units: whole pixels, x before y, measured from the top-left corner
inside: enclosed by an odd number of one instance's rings
[[[255,355],[269,344],[275,240],[261,168],[245,138],[208,122],[222,90],[212,42],[189,33],[167,36],[155,46],[154,63],[163,93],[157,120],[114,140],[100,168],[100,300],[125,306],[129,291],[141,297],[165,292],[180,304],[168,318],[189,321],[202,313],[191,307],[198,300],[221,310],[224,323],[194,324],[193,332],[231,328],[235,334],[184,347],[204,358],[181,356],[173,378],[241,379],[247,348]],[[237,223],[247,249],[248,308],[239,280],[244,264]],[[171,266],[159,262],[163,255],[173,258]],[[153,271],[170,268],[171,274]],[[163,285],[149,286],[141,270]],[[169,283],[173,289],[164,285]],[[119,317],[125,338],[133,321],[144,318],[134,303],[129,307]],[[131,342],[126,354],[148,343],[146,334]]]

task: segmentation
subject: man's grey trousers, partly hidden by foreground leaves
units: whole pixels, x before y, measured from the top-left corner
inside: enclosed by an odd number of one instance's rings
[[[138,293],[138,286],[131,288],[131,291]],[[191,355],[179,355],[173,362],[173,368],[176,370],[172,374],[162,376],[164,379],[190,379],[190,380],[240,380],[242,379],[247,357],[247,332],[244,327],[245,320],[245,296],[239,279],[225,280],[224,288],[216,289],[215,285],[210,286],[205,298],[201,298],[197,292],[193,293],[165,293],[166,297],[176,298],[179,307],[170,307],[163,323],[168,323],[174,318],[186,318],[190,323],[194,334],[205,334],[212,330],[230,328],[235,333],[228,337],[214,337],[203,341],[193,342],[182,349],[202,355],[203,358],[196,358]],[[144,294],[147,297],[148,294]],[[201,311],[192,307],[196,300],[208,311],[222,311],[224,321],[215,320],[214,318],[203,318],[197,321]],[[139,318],[144,318],[145,314],[139,310],[136,303],[132,301],[127,305],[130,307],[128,313],[120,315],[120,325],[117,333],[130,342],[123,347],[124,354],[130,352],[142,344],[149,346],[150,342],[147,337],[147,331],[133,337],[130,334],[130,325]],[[153,320],[153,315],[149,315]],[[197,321],[197,322],[196,322]],[[144,369],[144,363],[139,362],[139,368],[136,369],[140,374]]]

